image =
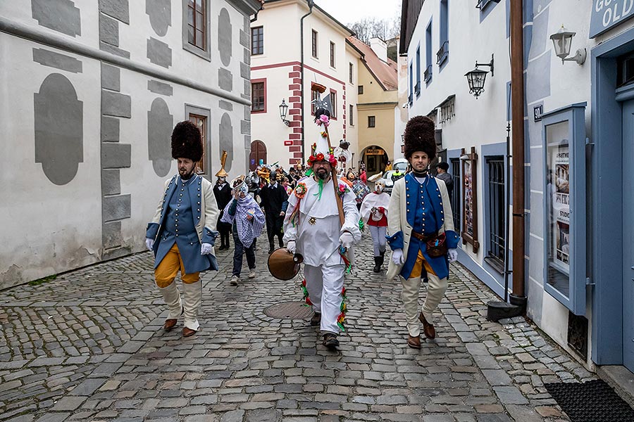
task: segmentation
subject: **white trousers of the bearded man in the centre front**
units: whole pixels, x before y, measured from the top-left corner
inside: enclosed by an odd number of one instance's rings
[[[337,318],[341,314],[343,278],[345,265],[320,265],[313,267],[304,264],[306,290],[313,302],[313,310],[321,312],[321,331],[339,333]]]

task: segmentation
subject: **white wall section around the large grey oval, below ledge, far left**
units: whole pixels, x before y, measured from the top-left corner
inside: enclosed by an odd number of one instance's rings
[[[33,62],[25,39],[0,33],[0,288],[96,262],[101,250],[100,65],[70,53],[82,73]],[[51,51],[56,51],[46,47]],[[68,184],[53,184],[35,162],[34,93],[44,78],[70,80],[83,107],[83,162]],[[11,284],[8,284],[11,283]]]

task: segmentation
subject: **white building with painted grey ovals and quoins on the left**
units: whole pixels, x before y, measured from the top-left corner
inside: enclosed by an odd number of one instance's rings
[[[256,0],[31,0],[0,4],[5,141],[0,288],[144,250],[170,134],[197,122],[199,173],[251,145]],[[10,239],[10,241],[8,241]]]

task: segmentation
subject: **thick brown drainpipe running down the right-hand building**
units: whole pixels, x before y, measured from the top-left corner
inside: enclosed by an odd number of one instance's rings
[[[524,294],[524,41],[523,0],[511,1],[511,98],[513,98],[513,293],[526,312]]]

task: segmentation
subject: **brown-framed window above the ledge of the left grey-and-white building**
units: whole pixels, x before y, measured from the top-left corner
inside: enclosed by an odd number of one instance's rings
[[[208,0],[182,0],[182,48],[211,61]]]

